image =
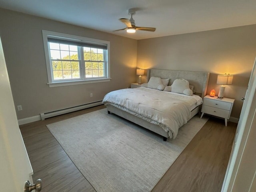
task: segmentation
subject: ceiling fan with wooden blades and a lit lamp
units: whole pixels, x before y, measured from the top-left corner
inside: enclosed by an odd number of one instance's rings
[[[153,27],[138,27],[138,26],[135,26],[134,19],[132,18],[132,15],[134,15],[135,13],[136,13],[135,9],[129,9],[128,10],[128,15],[130,15],[131,18],[130,19],[125,19],[125,18],[119,19],[127,27],[123,28],[123,29],[118,29],[118,30],[115,30],[115,31],[126,30],[126,32],[128,32],[128,33],[135,33],[136,30],[151,31],[151,32],[154,32],[156,30],[156,28],[153,28]]]

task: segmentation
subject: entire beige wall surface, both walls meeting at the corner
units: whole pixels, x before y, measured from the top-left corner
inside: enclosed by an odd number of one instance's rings
[[[215,89],[217,74],[234,74],[225,97],[234,98],[231,116],[238,118],[256,56],[256,25],[133,40],[12,12],[0,8],[0,35],[18,119],[60,108],[102,100],[111,90],[137,82],[138,68],[210,72],[208,93]],[[42,30],[110,41],[110,82],[49,88]],[[145,80],[145,76],[142,78]],[[93,97],[90,98],[90,93]]]

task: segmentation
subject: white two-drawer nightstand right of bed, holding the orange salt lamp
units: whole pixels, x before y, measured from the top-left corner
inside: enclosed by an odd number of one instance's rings
[[[230,98],[222,98],[218,99],[217,96],[211,97],[210,95],[206,95],[204,97],[204,102],[202,106],[202,116],[207,113],[210,115],[214,115],[217,117],[222,117],[225,119],[225,126],[227,126],[228,119],[230,118],[230,114],[233,108],[234,99]]]

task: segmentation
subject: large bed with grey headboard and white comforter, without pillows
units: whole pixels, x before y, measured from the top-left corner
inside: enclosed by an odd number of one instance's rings
[[[164,87],[169,88],[180,79],[187,80],[195,91],[192,96],[172,91],[148,88],[122,89],[112,91],[103,99],[108,114],[113,113],[130,120],[148,130],[167,138],[176,138],[178,128],[186,124],[200,112],[202,99],[206,95],[209,80],[208,72],[150,69],[147,71],[147,82],[158,78],[167,80]],[[151,85],[151,84],[150,84]],[[190,91],[191,92],[191,91]],[[169,104],[171,107],[169,107]]]

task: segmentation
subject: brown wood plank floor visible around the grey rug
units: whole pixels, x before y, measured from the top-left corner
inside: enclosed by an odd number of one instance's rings
[[[97,106],[20,126],[41,192],[96,192],[76,168],[47,124],[105,108]],[[152,192],[220,192],[237,124],[210,117]]]

